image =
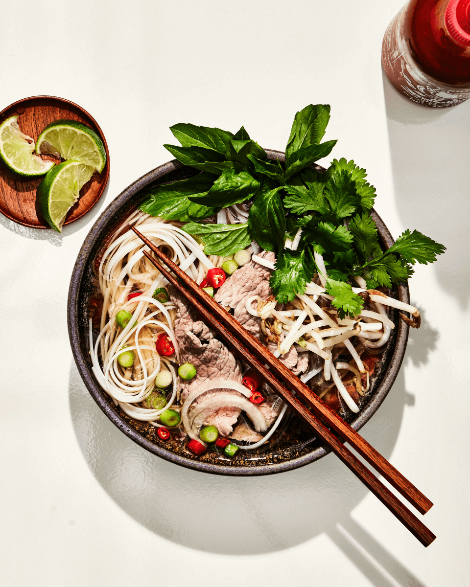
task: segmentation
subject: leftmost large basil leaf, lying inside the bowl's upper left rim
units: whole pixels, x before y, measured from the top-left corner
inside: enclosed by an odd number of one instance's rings
[[[159,185],[140,204],[139,210],[147,212],[151,216],[160,216],[167,220],[180,220],[181,222],[201,220],[212,216],[220,210],[220,207],[193,204],[188,196],[207,194],[214,184],[215,178],[216,176],[210,173],[199,173],[188,180]]]

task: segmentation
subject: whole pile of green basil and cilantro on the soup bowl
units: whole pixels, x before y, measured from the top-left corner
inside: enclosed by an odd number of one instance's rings
[[[445,247],[421,232],[406,230],[383,252],[370,216],[375,188],[354,161],[334,159],[324,173],[310,166],[330,154],[336,141],[321,143],[330,120],[328,104],[310,104],[297,112],[286,146],[286,163],[268,161],[265,151],[242,126],[232,134],[194,124],[170,127],[181,147],[164,145],[177,160],[201,173],[160,185],[140,210],[187,222],[183,230],[198,237],[207,255],[227,257],[257,241],[276,253],[270,278],[280,302],[304,294],[318,271],[314,251],[323,255],[326,291],[334,296],[340,318],[357,315],[362,298],[348,283],[365,279],[369,289],[407,281],[415,262],[427,265]],[[253,200],[245,224],[199,221],[232,204]],[[284,248],[301,228],[296,251]]]

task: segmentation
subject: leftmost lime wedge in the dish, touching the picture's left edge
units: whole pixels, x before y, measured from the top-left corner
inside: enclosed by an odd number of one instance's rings
[[[18,116],[10,116],[0,125],[0,157],[15,175],[43,176],[55,165],[53,161],[43,161],[33,155],[33,150],[34,140],[19,130]]]

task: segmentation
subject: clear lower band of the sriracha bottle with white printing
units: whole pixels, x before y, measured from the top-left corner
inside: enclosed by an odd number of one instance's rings
[[[405,31],[405,5],[388,25],[382,42],[382,66],[388,79],[404,96],[434,108],[447,108],[470,98],[470,85],[450,86],[422,71],[412,56]]]

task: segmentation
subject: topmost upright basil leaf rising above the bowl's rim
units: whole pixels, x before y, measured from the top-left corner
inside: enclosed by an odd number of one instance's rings
[[[296,113],[286,146],[286,158],[302,147],[317,145],[330,121],[330,104],[309,104]]]

